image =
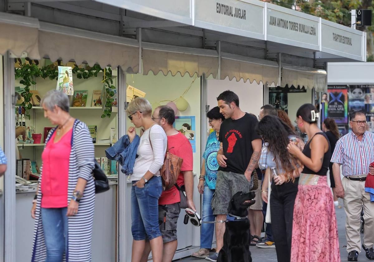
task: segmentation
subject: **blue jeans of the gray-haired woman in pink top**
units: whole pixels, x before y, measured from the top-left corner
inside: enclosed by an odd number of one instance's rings
[[[47,248],[46,262],[61,262],[67,256],[68,217],[67,207],[42,208],[44,240]]]

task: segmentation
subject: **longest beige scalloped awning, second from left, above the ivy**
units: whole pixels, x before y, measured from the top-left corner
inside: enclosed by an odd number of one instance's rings
[[[138,73],[138,46],[135,39],[40,22],[39,52],[52,61],[120,66],[127,73]]]

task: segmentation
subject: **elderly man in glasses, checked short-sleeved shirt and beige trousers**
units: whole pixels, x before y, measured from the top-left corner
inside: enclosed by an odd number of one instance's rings
[[[365,192],[367,176],[374,174],[369,165],[374,161],[374,134],[366,131],[365,113],[355,111],[350,114],[352,131],[341,137],[335,146],[331,162],[337,196],[343,198],[346,219],[348,261],[357,261],[361,252],[360,214],[364,206],[364,241],[362,248],[370,260],[374,260],[374,202]],[[343,179],[340,177],[340,166]],[[370,174],[369,174],[370,172]]]

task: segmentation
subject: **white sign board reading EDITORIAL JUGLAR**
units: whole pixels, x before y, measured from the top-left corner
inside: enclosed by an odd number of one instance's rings
[[[253,0],[197,0],[195,26],[264,40],[264,7]]]

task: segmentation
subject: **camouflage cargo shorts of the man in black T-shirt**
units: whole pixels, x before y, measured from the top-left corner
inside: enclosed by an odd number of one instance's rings
[[[218,171],[215,192],[212,198],[212,210],[215,216],[227,214],[227,208],[234,194],[239,191],[248,193],[253,187],[253,176],[249,182],[244,174]]]

